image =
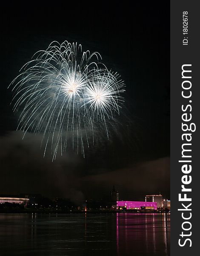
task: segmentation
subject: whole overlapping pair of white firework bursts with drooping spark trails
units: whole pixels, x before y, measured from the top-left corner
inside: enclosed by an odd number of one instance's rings
[[[124,82],[120,75],[107,70],[99,62],[98,52],[82,52],[81,45],[54,41],[45,51],[36,52],[10,85],[13,85],[14,112],[19,112],[17,129],[42,133],[46,148],[51,143],[53,160],[60,145],[66,151],[69,138],[79,144],[84,155],[84,144],[89,147],[94,126],[105,125],[119,108]],[[97,129],[95,129],[96,131]]]

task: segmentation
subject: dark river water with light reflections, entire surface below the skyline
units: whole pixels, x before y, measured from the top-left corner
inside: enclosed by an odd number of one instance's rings
[[[169,256],[167,213],[1,213],[1,256]]]

